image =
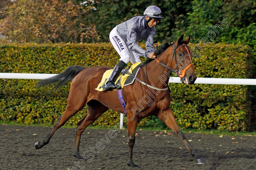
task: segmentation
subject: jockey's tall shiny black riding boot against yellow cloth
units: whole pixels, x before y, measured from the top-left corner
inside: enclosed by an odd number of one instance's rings
[[[111,75],[108,78],[108,82],[105,85],[106,90],[110,90],[112,88],[118,88],[118,85],[115,85],[116,78],[118,77],[119,73],[122,71],[123,67],[126,65],[125,62],[119,61],[116,66],[114,67]]]

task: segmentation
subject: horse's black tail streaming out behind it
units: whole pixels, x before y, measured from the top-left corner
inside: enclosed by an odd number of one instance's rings
[[[37,86],[42,87],[45,85],[54,85],[54,87],[49,91],[51,92],[52,90],[57,91],[60,88],[62,88],[63,85],[67,84],[68,82],[71,82],[73,78],[76,77],[78,73],[86,69],[86,67],[78,66],[78,65],[73,65],[68,67],[66,70],[62,71],[60,74],[55,75],[50,78],[46,78],[43,80],[40,80],[37,82]]]

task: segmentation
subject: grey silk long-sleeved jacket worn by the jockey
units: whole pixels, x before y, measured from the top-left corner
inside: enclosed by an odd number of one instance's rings
[[[149,53],[155,52],[154,47],[154,36],[155,36],[155,26],[153,28],[144,27],[145,16],[135,16],[116,27],[116,32],[119,36],[123,38],[128,44],[128,48],[139,54],[148,58]],[[146,38],[146,49],[142,49],[138,44],[138,40]]]

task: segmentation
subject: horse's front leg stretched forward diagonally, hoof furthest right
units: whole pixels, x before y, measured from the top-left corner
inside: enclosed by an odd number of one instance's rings
[[[176,136],[186,145],[190,154],[192,156],[196,157],[198,164],[205,164],[206,163],[204,161],[204,159],[199,154],[197,154],[196,150],[190,145],[190,143],[187,141],[185,135],[183,134],[183,132],[178,127],[178,125],[176,123],[176,120],[175,120],[175,117],[173,115],[172,109],[161,111],[158,114],[158,118],[160,120],[164,121],[165,124],[173,131],[173,133],[175,133]]]

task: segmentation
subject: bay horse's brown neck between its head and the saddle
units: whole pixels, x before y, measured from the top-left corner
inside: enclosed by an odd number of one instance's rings
[[[157,60],[169,66],[169,56],[171,52],[172,50],[165,50],[162,54],[159,55],[159,57],[157,57]],[[148,63],[147,69],[149,83],[155,85],[157,88],[166,88],[166,85],[168,85],[169,82],[169,69],[157,63],[156,60]]]

